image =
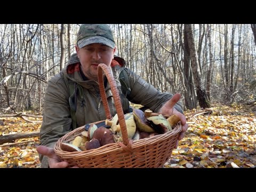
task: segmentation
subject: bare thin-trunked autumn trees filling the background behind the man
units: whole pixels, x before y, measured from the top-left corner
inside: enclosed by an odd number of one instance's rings
[[[186,109],[256,99],[255,24],[110,24],[127,67]],[[75,52],[77,24],[0,25],[0,113],[43,110]]]

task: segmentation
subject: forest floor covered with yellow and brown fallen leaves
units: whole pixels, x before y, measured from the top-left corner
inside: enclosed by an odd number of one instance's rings
[[[27,113],[29,112],[33,113]],[[164,167],[256,167],[255,102],[252,105],[215,105],[211,111],[187,110],[185,115],[189,124],[188,131]],[[42,121],[42,118],[27,118],[31,121]],[[29,123],[20,117],[1,117],[0,137],[39,131],[40,126],[40,123]],[[39,137],[15,142],[22,143],[0,145],[0,167],[41,166],[36,151]]]

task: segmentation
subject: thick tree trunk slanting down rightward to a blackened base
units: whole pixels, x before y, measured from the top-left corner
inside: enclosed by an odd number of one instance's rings
[[[193,70],[194,82],[196,84],[196,94],[197,94],[199,106],[204,109],[209,108],[210,101],[206,97],[206,93],[202,87],[201,78],[199,76],[197,53],[196,53],[195,41],[194,41],[191,24],[185,24],[184,35],[186,35],[187,39],[188,39],[189,53],[190,53],[190,58],[191,58],[191,67]]]

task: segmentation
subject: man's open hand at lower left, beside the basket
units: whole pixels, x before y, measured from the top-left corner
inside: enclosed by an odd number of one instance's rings
[[[68,166],[68,162],[61,161],[58,155],[55,154],[53,148],[46,146],[38,146],[36,148],[39,154],[48,157],[49,167],[50,168],[66,168]],[[74,167],[78,168],[78,167]]]

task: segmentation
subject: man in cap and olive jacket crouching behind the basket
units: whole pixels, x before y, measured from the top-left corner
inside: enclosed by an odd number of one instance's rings
[[[76,127],[106,119],[98,85],[97,68],[100,63],[105,63],[113,72],[124,113],[129,111],[131,101],[154,112],[177,114],[182,124],[179,140],[184,137],[188,125],[181,105],[177,103],[180,94],[158,91],[133,71],[122,67],[125,61],[115,57],[115,52],[114,38],[108,25],[81,25],[77,34],[77,54],[71,56],[65,69],[50,79],[45,92],[44,117],[40,130],[41,146],[37,147],[41,167],[67,167],[68,163],[61,162],[54,153],[52,147],[55,142]],[[130,89],[125,94],[119,81],[121,72],[126,74],[125,81]],[[105,91],[111,115],[114,116],[116,109],[107,81]]]

